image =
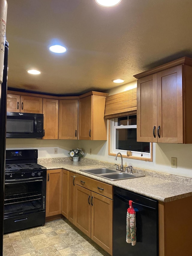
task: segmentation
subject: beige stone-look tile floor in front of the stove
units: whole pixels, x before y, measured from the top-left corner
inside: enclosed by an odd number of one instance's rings
[[[4,235],[3,256],[109,256],[67,219]]]

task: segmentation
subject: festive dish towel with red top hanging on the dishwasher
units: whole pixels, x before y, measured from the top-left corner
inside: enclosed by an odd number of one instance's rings
[[[129,200],[129,208],[127,209],[127,236],[126,242],[131,245],[136,245],[136,218],[135,210],[132,206],[131,200]]]

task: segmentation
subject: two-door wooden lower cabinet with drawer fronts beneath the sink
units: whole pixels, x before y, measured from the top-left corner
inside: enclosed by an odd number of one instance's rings
[[[79,181],[84,187],[78,185]],[[85,188],[89,187],[89,185],[90,189]],[[101,191],[101,193],[105,194],[105,188],[107,194],[110,189],[112,191],[111,185],[77,175],[75,187],[75,225],[112,255],[113,200],[94,192],[99,189],[99,192]],[[113,198],[112,193],[111,197]]]

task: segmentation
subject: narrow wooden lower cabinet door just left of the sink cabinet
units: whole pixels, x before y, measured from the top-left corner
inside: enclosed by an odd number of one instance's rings
[[[75,224],[75,173],[69,172],[69,221]]]

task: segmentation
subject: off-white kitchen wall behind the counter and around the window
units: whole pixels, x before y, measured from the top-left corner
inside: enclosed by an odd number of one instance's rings
[[[137,82],[134,81],[111,89],[108,93],[112,95],[136,86]],[[87,158],[109,161],[114,164],[120,163],[120,158],[115,161],[114,156],[108,155],[108,141],[7,139],[6,144],[7,149],[38,149],[38,158],[68,157],[70,149],[80,147]],[[57,155],[54,154],[54,148],[58,148]],[[92,149],[91,155],[90,149]],[[177,169],[171,168],[171,157],[177,157]],[[153,162],[124,158],[123,164],[192,177],[190,158],[192,158],[192,144],[153,143]]]

